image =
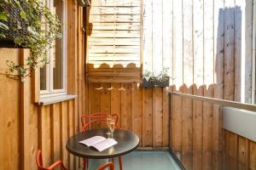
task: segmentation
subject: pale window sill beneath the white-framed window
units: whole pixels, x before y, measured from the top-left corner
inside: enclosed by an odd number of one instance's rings
[[[55,97],[47,97],[47,98],[40,99],[38,102],[38,105],[51,105],[51,104],[59,103],[62,101],[75,99],[77,97],[78,97],[77,95],[71,95],[71,94],[64,94],[64,95],[59,95]]]

